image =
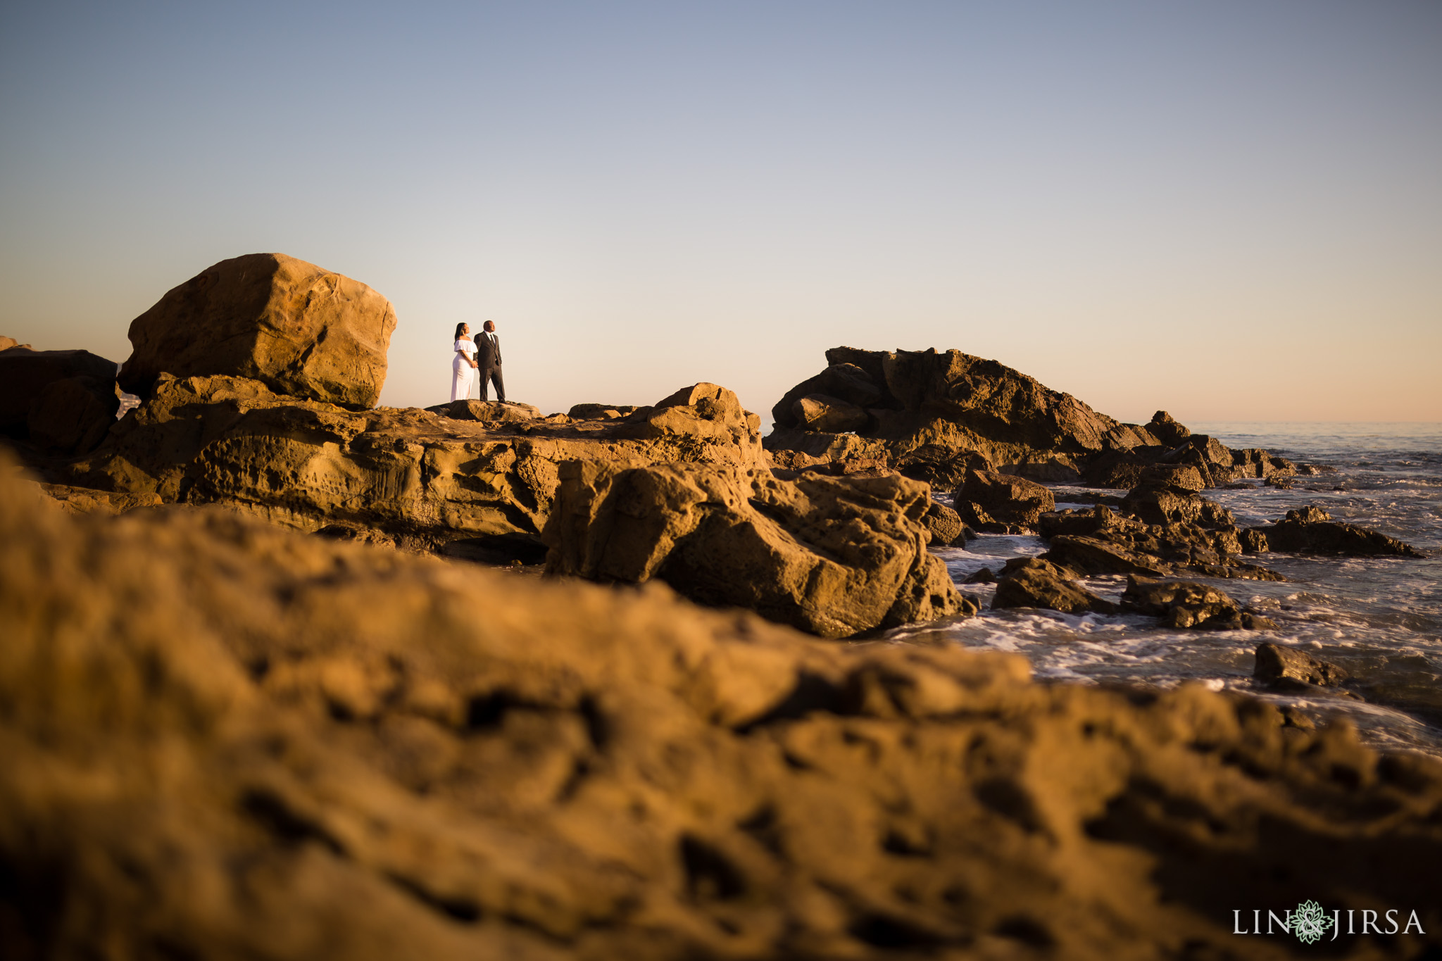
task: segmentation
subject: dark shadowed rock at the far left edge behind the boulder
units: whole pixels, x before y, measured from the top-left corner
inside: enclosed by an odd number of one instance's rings
[[[0,350],[0,434],[84,454],[115,422],[115,362],[88,350]]]

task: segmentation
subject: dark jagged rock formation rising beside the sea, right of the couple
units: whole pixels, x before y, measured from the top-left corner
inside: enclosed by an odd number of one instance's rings
[[[959,350],[880,352],[833,347],[828,367],[771,409],[766,445],[844,461],[881,461],[908,477],[955,487],[969,470],[1040,481],[1135,487],[1197,487],[1240,477],[1291,475],[1295,465],[1266,451],[1233,451],[1194,435],[1165,411],[1151,424],[1120,424],[995,360]]]

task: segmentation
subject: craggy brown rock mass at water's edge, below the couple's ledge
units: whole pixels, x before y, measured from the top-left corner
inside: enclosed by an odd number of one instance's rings
[[[926,484],[900,475],[795,481],[740,467],[561,465],[547,572],[665,581],[822,637],[975,608],[927,553]]]

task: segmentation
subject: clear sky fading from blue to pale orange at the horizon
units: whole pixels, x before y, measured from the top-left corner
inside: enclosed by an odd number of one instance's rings
[[[0,333],[124,360],[255,251],[391,298],[391,405],[493,318],[547,412],[851,344],[1442,421],[1442,3],[3,6]]]

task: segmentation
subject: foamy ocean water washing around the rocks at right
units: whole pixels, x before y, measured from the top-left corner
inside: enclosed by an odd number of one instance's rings
[[[1305,504],[1334,520],[1397,537],[1429,555],[1410,558],[1317,558],[1269,553],[1249,558],[1286,575],[1280,584],[1207,581],[1239,604],[1278,622],[1278,631],[1161,630],[1142,615],[1070,615],[1056,611],[992,611],[991,585],[963,585],[989,566],[1045,550],[1040,537],[983,535],[960,549],[939,549],[957,586],[983,604],[979,617],[913,625],[888,640],[946,640],[966,647],[1025,654],[1038,680],[1172,686],[1203,683],[1292,705],[1318,722],[1350,718],[1379,748],[1442,755],[1442,424],[1200,424],[1229,447],[1260,447],[1335,473],[1298,477],[1292,490],[1249,481],[1240,490],[1204,494],[1229,507],[1242,526],[1262,524]],[[1057,506],[1076,487],[1056,487]],[[1116,493],[1116,491],[1109,491]],[[1090,504],[1086,504],[1090,506]],[[1083,585],[1119,599],[1123,576]],[[1252,683],[1256,645],[1272,641],[1341,664],[1363,700],[1266,693]]]

